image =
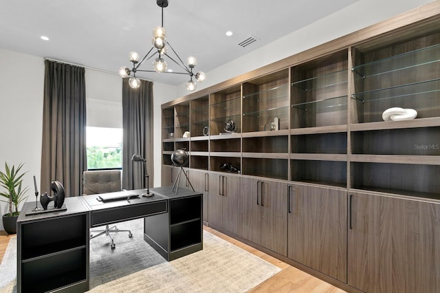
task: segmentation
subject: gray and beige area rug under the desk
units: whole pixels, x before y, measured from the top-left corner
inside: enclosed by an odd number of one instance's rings
[[[165,261],[143,239],[143,221],[118,224],[130,229],[90,241],[90,292],[247,292],[281,269],[203,231],[203,250]],[[17,242],[10,240],[0,265],[0,292],[17,292]],[[5,276],[5,278],[3,278]]]

